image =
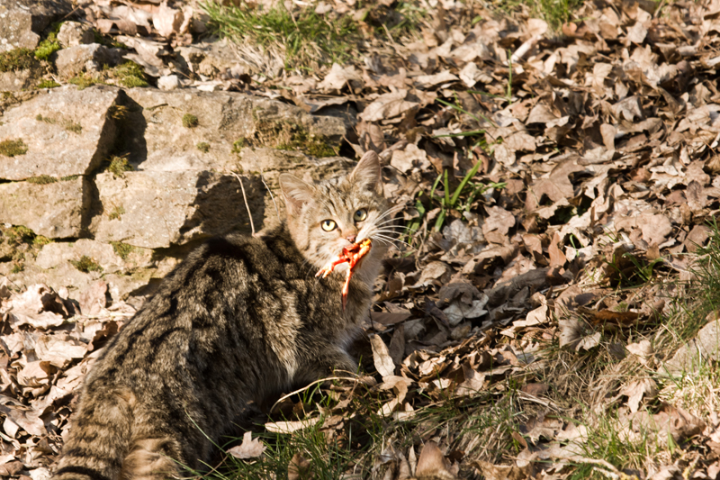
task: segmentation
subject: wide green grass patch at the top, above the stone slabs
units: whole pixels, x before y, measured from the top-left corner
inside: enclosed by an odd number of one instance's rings
[[[285,68],[309,68],[314,61],[344,63],[358,37],[357,23],[348,15],[337,19],[315,13],[314,7],[291,14],[283,5],[263,11],[247,4],[222,6],[205,2],[211,27],[240,44],[284,51]]]

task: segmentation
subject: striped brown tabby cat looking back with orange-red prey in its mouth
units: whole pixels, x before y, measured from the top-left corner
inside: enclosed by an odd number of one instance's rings
[[[379,158],[369,152],[347,177],[314,185],[284,174],[280,186],[285,222],[204,243],[109,342],[85,377],[55,480],[197,469],[253,408],[333,369],[356,371],[347,346],[369,313],[391,213]],[[378,241],[343,309],[347,265],[315,272],[365,238]]]

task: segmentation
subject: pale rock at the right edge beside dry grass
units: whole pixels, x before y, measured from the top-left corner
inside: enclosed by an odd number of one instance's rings
[[[720,321],[713,319],[698,331],[693,340],[680,347],[675,355],[660,367],[658,373],[683,375],[697,371],[702,362],[720,359]]]

